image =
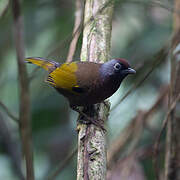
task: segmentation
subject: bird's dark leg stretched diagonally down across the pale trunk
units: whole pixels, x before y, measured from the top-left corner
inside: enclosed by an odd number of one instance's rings
[[[83,111],[81,111],[77,106],[71,106],[71,108],[74,111],[78,112],[80,115],[82,115],[83,117],[86,118],[86,121],[83,121],[81,119],[80,120],[81,123],[83,123],[83,124],[90,124],[90,123],[92,123],[92,124],[96,125],[97,127],[100,127],[102,130],[106,131],[104,126],[103,126],[103,124],[101,123],[101,121],[89,117],[87,114],[85,114]]]

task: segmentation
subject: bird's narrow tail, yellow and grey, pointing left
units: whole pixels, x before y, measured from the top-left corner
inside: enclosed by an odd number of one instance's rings
[[[26,62],[40,66],[49,72],[52,72],[54,69],[59,67],[59,63],[39,57],[28,57],[26,58]]]

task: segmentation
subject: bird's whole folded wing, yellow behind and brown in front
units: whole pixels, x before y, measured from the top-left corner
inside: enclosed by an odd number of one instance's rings
[[[89,62],[64,63],[48,76],[47,81],[57,89],[85,93],[92,85],[97,65]],[[93,72],[92,72],[93,70]]]

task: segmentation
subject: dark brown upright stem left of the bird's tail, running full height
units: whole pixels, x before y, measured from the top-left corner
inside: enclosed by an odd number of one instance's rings
[[[34,180],[29,84],[24,63],[23,19],[19,0],[12,0],[11,3],[14,18],[14,41],[17,53],[20,86],[19,128],[22,139],[23,154],[25,155],[26,160],[26,178],[27,180]]]

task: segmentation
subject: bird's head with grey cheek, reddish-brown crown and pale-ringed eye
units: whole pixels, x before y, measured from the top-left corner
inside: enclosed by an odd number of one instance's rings
[[[102,64],[100,72],[104,78],[111,76],[119,80],[123,80],[128,74],[136,73],[125,59],[112,59]]]

